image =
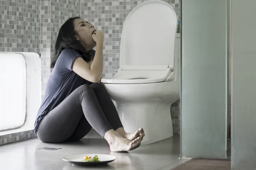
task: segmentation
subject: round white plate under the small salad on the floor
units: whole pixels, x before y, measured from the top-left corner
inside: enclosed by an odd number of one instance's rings
[[[95,154],[99,158],[99,162],[82,162],[84,160],[84,156],[91,156],[93,157],[94,154],[77,154],[77,155],[70,155],[70,156],[65,156],[62,159],[64,161],[68,161],[72,164],[75,165],[100,165],[100,164],[107,164],[109,162],[112,162],[113,160],[116,159],[116,156],[113,155],[105,155],[105,154]]]

